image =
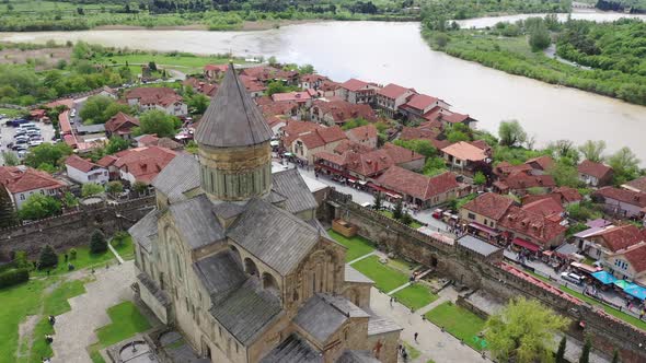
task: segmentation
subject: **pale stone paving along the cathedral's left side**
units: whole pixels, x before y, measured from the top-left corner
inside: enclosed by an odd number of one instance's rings
[[[54,326],[54,363],[91,362],[85,348],[99,340],[95,329],[112,323],[106,309],[134,298],[134,261],[126,261],[97,269],[96,281],[85,284],[86,292],[69,300],[71,311],[57,316]]]

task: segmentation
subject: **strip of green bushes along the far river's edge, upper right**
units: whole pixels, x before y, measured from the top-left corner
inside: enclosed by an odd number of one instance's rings
[[[509,74],[646,105],[646,77],[561,62],[542,51],[531,51],[523,34],[506,37],[473,30],[446,33],[423,30],[422,36],[434,50]]]

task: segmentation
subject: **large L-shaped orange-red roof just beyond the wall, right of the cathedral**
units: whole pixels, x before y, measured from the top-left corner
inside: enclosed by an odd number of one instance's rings
[[[435,177],[428,177],[403,167],[391,166],[376,183],[396,192],[428,200],[443,192],[459,188],[455,174],[447,172]]]

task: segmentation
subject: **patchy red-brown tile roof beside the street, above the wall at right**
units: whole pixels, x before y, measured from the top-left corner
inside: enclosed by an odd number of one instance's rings
[[[550,221],[541,214],[518,207],[510,207],[505,216],[498,222],[498,225],[511,232],[529,236],[543,245],[552,243],[554,238],[563,235],[566,230],[557,222]]]

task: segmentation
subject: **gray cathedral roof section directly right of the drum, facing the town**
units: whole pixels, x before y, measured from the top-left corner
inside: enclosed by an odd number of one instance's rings
[[[296,168],[272,174],[273,189],[287,198],[285,209],[291,213],[299,213],[309,209],[316,209],[319,204],[310,188]]]

